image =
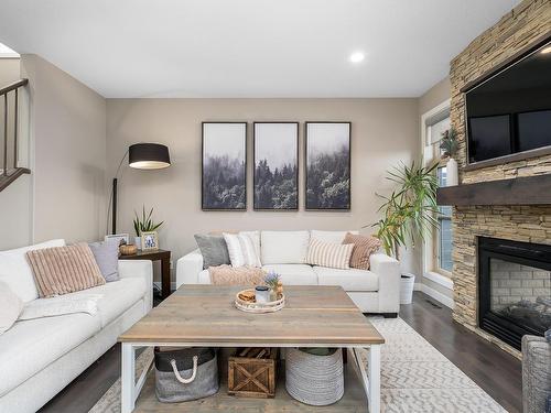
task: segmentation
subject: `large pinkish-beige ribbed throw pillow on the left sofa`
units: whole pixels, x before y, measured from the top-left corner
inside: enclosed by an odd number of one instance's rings
[[[26,252],[41,297],[53,297],[105,284],[86,242]]]

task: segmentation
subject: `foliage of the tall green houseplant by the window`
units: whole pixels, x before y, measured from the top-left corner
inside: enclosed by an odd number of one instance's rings
[[[398,258],[399,248],[408,240],[412,244],[415,239],[424,240],[428,231],[436,227],[436,167],[437,163],[423,166],[412,162],[388,172],[387,180],[398,187],[389,196],[377,194],[383,199],[378,209],[382,218],[374,224],[387,254]]]

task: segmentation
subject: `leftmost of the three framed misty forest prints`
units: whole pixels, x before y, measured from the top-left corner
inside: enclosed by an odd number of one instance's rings
[[[247,209],[247,123],[203,122],[203,210]]]

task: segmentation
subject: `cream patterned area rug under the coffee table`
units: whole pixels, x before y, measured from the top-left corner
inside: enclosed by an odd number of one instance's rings
[[[406,322],[369,319],[386,340],[381,350],[382,412],[506,412]],[[151,350],[142,352],[137,360],[137,371],[141,371],[151,357]],[[315,407],[312,411],[315,412]],[[90,410],[90,413],[116,412],[120,412],[120,379]]]

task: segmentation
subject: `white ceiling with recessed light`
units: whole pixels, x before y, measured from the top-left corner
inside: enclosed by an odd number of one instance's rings
[[[2,0],[0,42],[108,98],[417,97],[517,3]]]

